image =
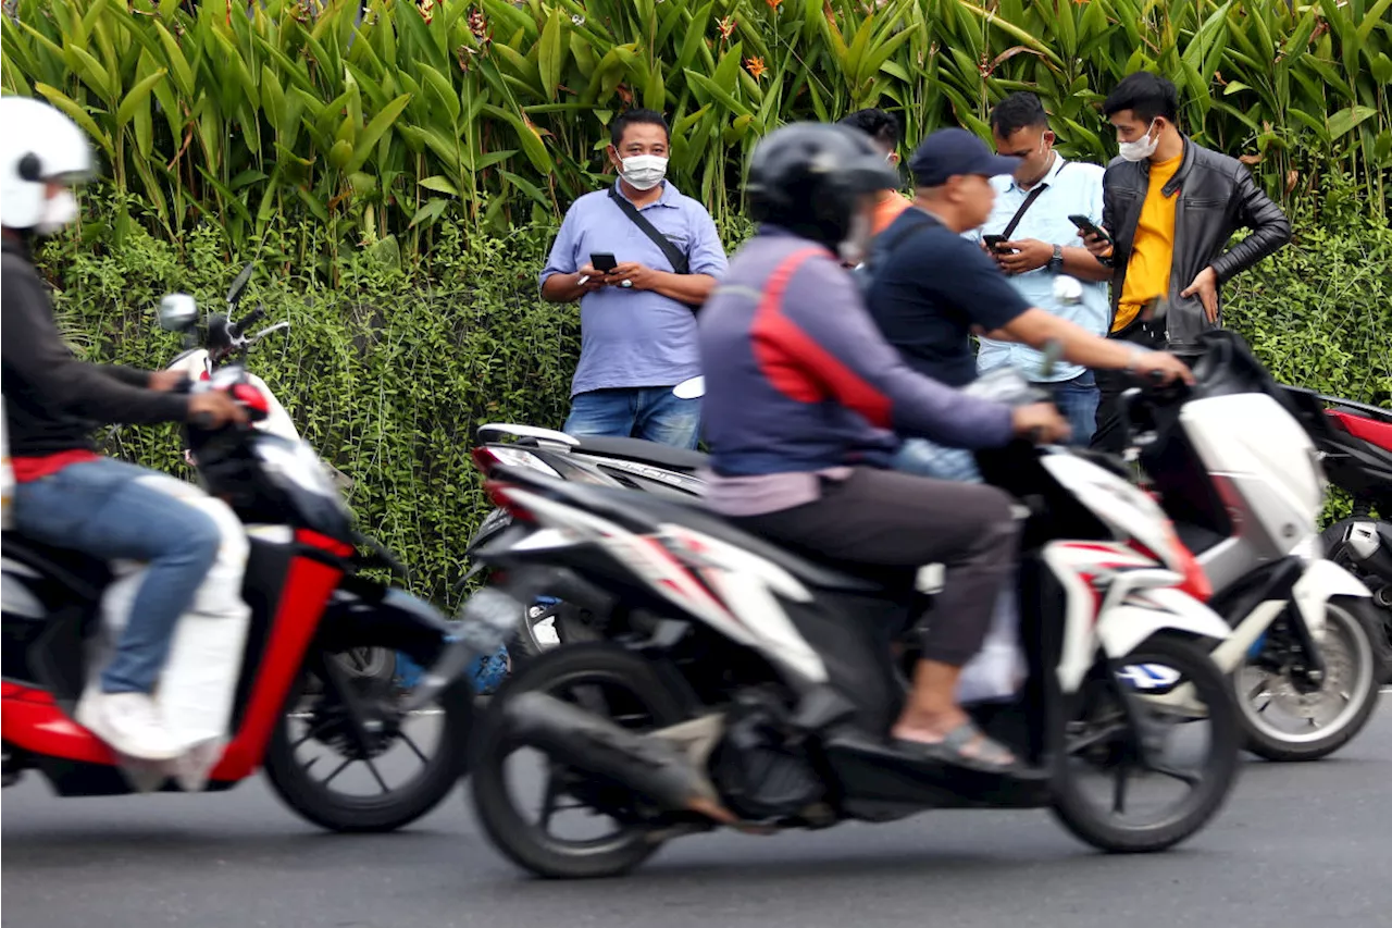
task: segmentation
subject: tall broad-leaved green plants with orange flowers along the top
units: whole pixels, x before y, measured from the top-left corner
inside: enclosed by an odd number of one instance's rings
[[[501,234],[554,217],[607,170],[622,109],[674,125],[672,177],[738,213],[753,142],[862,106],[912,142],[984,132],[1037,91],[1065,153],[1114,150],[1102,96],[1176,81],[1196,138],[1296,195],[1342,171],[1386,210],[1392,0],[17,0],[0,91],[42,95],[97,139],[113,234],[202,219],[333,280],[387,242],[406,263],[445,220]],[[193,10],[193,13],[189,13]],[[337,281],[335,281],[337,283]]]

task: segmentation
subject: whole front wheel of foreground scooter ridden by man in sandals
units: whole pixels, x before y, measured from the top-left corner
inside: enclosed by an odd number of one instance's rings
[[[1100,850],[1160,851],[1208,823],[1232,790],[1237,708],[1228,677],[1192,640],[1160,634],[1119,663],[1094,667],[1075,701],[1052,811]]]

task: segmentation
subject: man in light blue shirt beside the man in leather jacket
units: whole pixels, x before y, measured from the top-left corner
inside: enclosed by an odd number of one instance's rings
[[[991,135],[997,153],[1020,162],[1013,176],[991,178],[995,206],[986,224],[972,235],[977,241],[984,241],[986,235],[1005,235],[1008,241],[988,252],[1031,307],[1105,337],[1111,320],[1105,281],[1111,269],[1087,252],[1077,229],[1068,219],[1082,215],[1101,224],[1104,169],[1069,162],[1054,150],[1048,116],[1033,93],[1012,93],[1001,100],[991,111]],[[1015,220],[1026,201],[1029,206]],[[1082,283],[1082,298],[1076,298],[1076,290],[1075,298],[1055,295],[1055,281],[1063,274]],[[1048,387],[1073,429],[1072,443],[1086,447],[1097,428],[1097,380],[1091,371],[1076,364],[1058,364],[1045,378],[1040,372],[1043,358],[1027,344],[983,337],[977,371],[986,373],[1011,365]]]

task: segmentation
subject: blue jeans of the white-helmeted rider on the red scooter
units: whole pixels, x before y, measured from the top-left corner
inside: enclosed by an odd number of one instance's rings
[[[102,458],[15,488],[15,527],[26,538],[100,560],[146,564],[125,631],[102,673],[103,693],[155,691],[174,626],[221,546],[217,523],[160,490],[159,482],[170,479]]]

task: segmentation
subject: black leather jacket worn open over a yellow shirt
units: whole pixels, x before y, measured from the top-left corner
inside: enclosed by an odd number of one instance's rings
[[[1112,274],[1112,314],[1121,301],[1130,261],[1136,223],[1150,185],[1150,162],[1118,157],[1102,176],[1102,226],[1116,244]],[[1215,326],[1204,315],[1197,295],[1180,297],[1199,272],[1212,265],[1222,284],[1251,268],[1290,241],[1290,222],[1271,202],[1247,167],[1235,157],[1211,152],[1185,138],[1185,155],[1175,177],[1165,184],[1166,196],[1179,191],[1175,203],[1175,258],[1169,272],[1171,311],[1165,316],[1165,340],[1180,354],[1199,350],[1199,336]],[[1239,229],[1253,234],[1224,252]],[[1219,326],[1222,325],[1219,300]]]

